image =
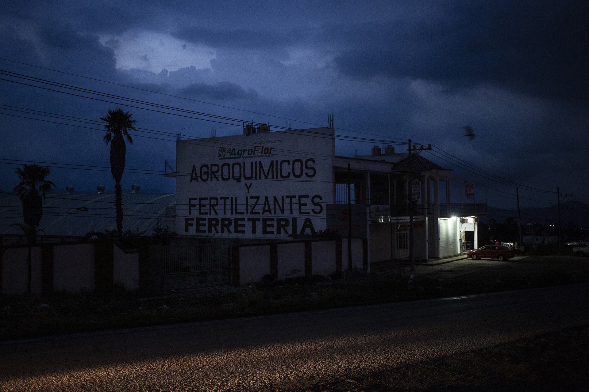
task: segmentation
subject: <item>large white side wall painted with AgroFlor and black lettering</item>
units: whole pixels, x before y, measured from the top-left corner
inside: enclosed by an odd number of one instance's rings
[[[333,129],[181,140],[176,232],[286,237],[326,229]]]

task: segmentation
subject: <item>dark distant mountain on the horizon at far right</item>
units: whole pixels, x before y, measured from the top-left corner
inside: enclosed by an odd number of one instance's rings
[[[503,209],[488,206],[488,219],[495,219],[502,223],[508,217],[517,220],[517,209]],[[569,200],[560,204],[562,227],[567,227],[568,222],[574,222],[576,225],[589,227],[589,206],[582,202]],[[558,206],[549,206],[542,208],[522,208],[522,223],[555,223],[558,222]]]

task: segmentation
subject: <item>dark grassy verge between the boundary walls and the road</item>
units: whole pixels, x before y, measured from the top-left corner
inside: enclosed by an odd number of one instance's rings
[[[558,264],[562,265],[561,261]],[[350,273],[342,279],[296,278],[272,285],[216,287],[163,296],[125,292],[112,296],[55,293],[0,297],[0,339],[75,333],[157,324],[204,321],[439,297],[462,296],[589,281],[589,276],[555,270],[532,273],[496,270],[470,273],[468,278],[441,279],[399,270],[383,277]]]

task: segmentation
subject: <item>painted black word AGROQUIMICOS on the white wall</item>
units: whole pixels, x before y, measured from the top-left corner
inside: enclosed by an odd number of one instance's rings
[[[190,182],[229,181],[234,180],[267,180],[267,179],[297,179],[301,177],[313,178],[317,174],[315,159],[282,159],[233,163],[211,163],[198,167],[192,166]]]

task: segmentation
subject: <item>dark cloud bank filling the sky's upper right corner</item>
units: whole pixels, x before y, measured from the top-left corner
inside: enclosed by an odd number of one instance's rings
[[[343,51],[340,72],[389,75],[468,88],[480,83],[570,102],[589,102],[589,3],[468,2],[424,25],[373,30]],[[370,30],[370,29],[369,29]]]

